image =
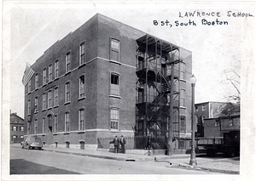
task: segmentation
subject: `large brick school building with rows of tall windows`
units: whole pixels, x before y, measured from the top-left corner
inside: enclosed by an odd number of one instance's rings
[[[108,148],[114,135],[124,135],[127,148],[137,148],[135,140],[142,136],[167,136],[172,97],[173,133],[190,137],[191,53],[172,43],[96,14],[55,42],[31,68],[35,73],[25,86],[25,131],[45,144]],[[148,89],[143,93],[143,88]],[[155,98],[160,101],[154,108],[138,105]],[[158,116],[153,119],[152,113]],[[152,135],[153,128],[162,131]]]

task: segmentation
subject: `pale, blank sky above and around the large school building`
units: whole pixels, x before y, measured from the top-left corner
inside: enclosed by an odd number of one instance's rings
[[[24,116],[24,86],[21,80],[26,63],[35,63],[52,44],[77,30],[97,13],[189,49],[192,52],[192,71],[197,78],[195,103],[226,102],[230,95],[237,95],[236,88],[227,81],[226,76],[231,74],[224,72],[231,70],[241,76],[246,74],[241,72],[241,66],[254,54],[255,3],[124,2],[3,3],[3,22],[6,23],[3,33],[8,40],[6,48],[9,49],[6,60],[11,72],[9,110]],[[192,15],[194,12],[194,16],[186,16],[186,13]],[[234,17],[233,13],[237,12],[253,16]],[[166,20],[170,23],[161,25],[160,21]],[[211,25],[202,25],[202,20]],[[154,23],[156,21],[158,25]],[[191,25],[181,25],[189,21]],[[219,25],[219,21],[226,21],[228,25]],[[244,79],[236,80],[241,82]]]

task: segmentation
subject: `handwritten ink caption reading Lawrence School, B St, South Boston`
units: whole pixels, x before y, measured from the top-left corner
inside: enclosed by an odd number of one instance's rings
[[[241,13],[241,12],[232,12],[228,11],[226,14],[227,17],[254,17],[253,14],[250,13]],[[221,17],[220,12],[185,12],[182,14],[179,12],[178,14],[179,18],[184,17],[200,17],[201,19],[200,23],[196,23],[195,20],[174,20],[173,22],[170,22],[169,20],[153,20],[154,25],[161,25],[161,26],[196,26],[198,24],[200,25],[229,25],[228,20],[219,20]],[[216,20],[207,20],[205,17],[216,17]]]

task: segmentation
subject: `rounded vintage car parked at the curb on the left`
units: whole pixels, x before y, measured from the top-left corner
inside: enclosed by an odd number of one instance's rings
[[[29,135],[20,143],[21,149],[42,149],[42,140],[37,135]]]

